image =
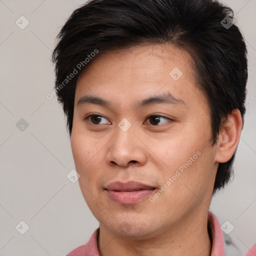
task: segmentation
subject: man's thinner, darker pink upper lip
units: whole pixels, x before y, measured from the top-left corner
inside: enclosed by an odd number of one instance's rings
[[[137,181],[127,181],[127,182],[121,182],[121,181],[115,181],[106,186],[107,190],[116,190],[116,191],[134,191],[139,189],[152,189],[155,188],[151,185],[147,185],[141,182]]]

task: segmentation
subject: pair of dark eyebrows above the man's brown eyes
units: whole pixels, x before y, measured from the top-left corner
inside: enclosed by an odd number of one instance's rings
[[[139,109],[144,106],[160,104],[160,103],[172,104],[172,105],[177,105],[180,107],[187,107],[183,100],[174,97],[172,94],[170,94],[170,92],[164,92],[164,93],[158,94],[157,96],[154,95],[154,96],[150,96],[148,98],[139,100],[134,103],[133,107],[135,109]],[[80,106],[83,104],[96,104],[96,105],[100,105],[102,107],[113,108],[113,105],[110,101],[100,98],[98,96],[82,96],[82,97],[80,97],[76,106]]]

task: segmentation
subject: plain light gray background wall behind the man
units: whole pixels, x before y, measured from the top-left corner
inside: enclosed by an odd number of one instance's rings
[[[66,177],[74,162],[64,115],[55,96],[46,98],[53,89],[55,36],[83,2],[0,0],[1,256],[65,255],[87,242],[98,226],[78,182]],[[228,220],[234,226],[228,236],[244,255],[256,241],[256,0],[225,3],[233,8],[247,43],[247,110],[235,177],[212,198],[210,210],[220,224]],[[15,23],[21,15],[29,21],[24,29]],[[21,118],[28,123],[23,131],[16,126]],[[29,226],[24,234],[21,220]]]

